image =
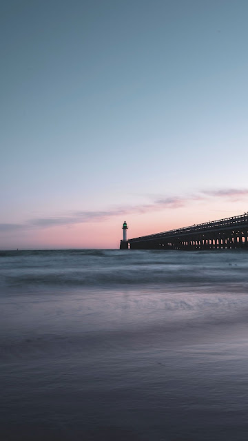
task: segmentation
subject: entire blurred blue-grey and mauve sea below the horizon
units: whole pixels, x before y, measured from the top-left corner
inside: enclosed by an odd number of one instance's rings
[[[1,441],[245,441],[248,253],[0,252]]]

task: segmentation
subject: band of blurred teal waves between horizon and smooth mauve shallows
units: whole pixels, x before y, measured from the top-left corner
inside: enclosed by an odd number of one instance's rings
[[[6,255],[5,255],[6,254]],[[245,257],[245,258],[244,258]],[[55,250],[1,252],[2,287],[185,285],[247,289],[242,252]]]

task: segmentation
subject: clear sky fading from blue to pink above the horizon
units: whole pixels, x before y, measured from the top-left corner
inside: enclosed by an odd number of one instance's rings
[[[3,0],[0,249],[248,211],[247,0]]]

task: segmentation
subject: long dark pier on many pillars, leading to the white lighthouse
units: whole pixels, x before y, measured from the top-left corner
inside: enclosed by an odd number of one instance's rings
[[[129,239],[131,249],[248,249],[248,213]]]

